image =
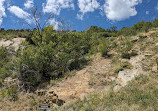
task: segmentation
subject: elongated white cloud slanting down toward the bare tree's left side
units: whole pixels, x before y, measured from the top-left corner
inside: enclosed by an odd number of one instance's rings
[[[8,10],[17,16],[18,18],[25,19],[28,23],[31,22],[29,16],[30,14],[19,8],[18,6],[10,6]]]

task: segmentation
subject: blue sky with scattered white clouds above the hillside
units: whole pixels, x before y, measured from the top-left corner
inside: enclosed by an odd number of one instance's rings
[[[61,19],[72,24],[71,30],[81,31],[90,26],[130,27],[158,18],[158,0],[0,0],[0,28],[28,28],[19,21],[32,24],[29,16],[35,6],[45,16],[54,13],[49,24],[56,29]]]

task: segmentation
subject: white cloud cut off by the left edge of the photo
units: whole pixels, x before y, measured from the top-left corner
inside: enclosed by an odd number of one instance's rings
[[[0,25],[3,22],[3,17],[6,16],[4,2],[5,0],[0,0]]]

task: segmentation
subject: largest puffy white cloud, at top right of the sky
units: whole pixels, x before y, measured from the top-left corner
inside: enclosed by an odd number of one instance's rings
[[[109,20],[121,21],[137,15],[135,6],[142,0],[106,0],[104,12]]]

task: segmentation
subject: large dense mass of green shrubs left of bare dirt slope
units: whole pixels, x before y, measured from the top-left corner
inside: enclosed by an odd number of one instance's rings
[[[26,45],[19,52],[20,80],[38,86],[42,80],[58,77],[65,72],[81,68],[86,64],[84,55],[91,49],[88,33],[52,33],[48,26],[42,33],[42,40],[34,33],[35,45]]]

